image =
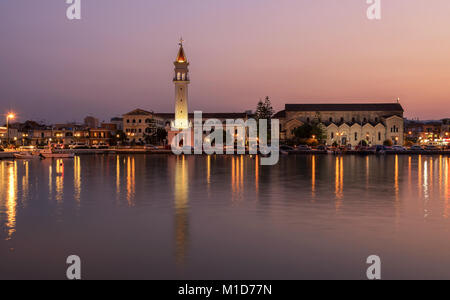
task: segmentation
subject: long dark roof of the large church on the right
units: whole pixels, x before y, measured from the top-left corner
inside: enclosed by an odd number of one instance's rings
[[[399,103],[355,104],[286,104],[286,111],[395,111],[403,112]]]

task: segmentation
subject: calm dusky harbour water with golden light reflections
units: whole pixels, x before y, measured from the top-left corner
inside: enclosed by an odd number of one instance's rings
[[[0,279],[450,279],[450,158],[0,162]]]

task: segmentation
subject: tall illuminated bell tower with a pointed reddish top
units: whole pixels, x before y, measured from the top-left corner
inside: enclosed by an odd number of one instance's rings
[[[189,62],[183,49],[183,39],[180,40],[180,49],[174,62],[175,76],[175,121],[172,127],[175,129],[186,129],[190,127],[188,114],[188,84],[189,81]]]

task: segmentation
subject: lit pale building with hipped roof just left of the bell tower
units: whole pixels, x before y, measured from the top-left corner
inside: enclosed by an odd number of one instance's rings
[[[135,109],[123,115],[123,130],[130,143],[145,143],[147,137],[156,135],[158,128],[164,128],[164,119],[153,112]]]

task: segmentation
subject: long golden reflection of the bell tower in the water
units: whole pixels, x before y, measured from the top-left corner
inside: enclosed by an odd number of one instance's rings
[[[175,164],[175,258],[178,265],[186,261],[189,241],[189,176],[186,157],[176,158]]]

